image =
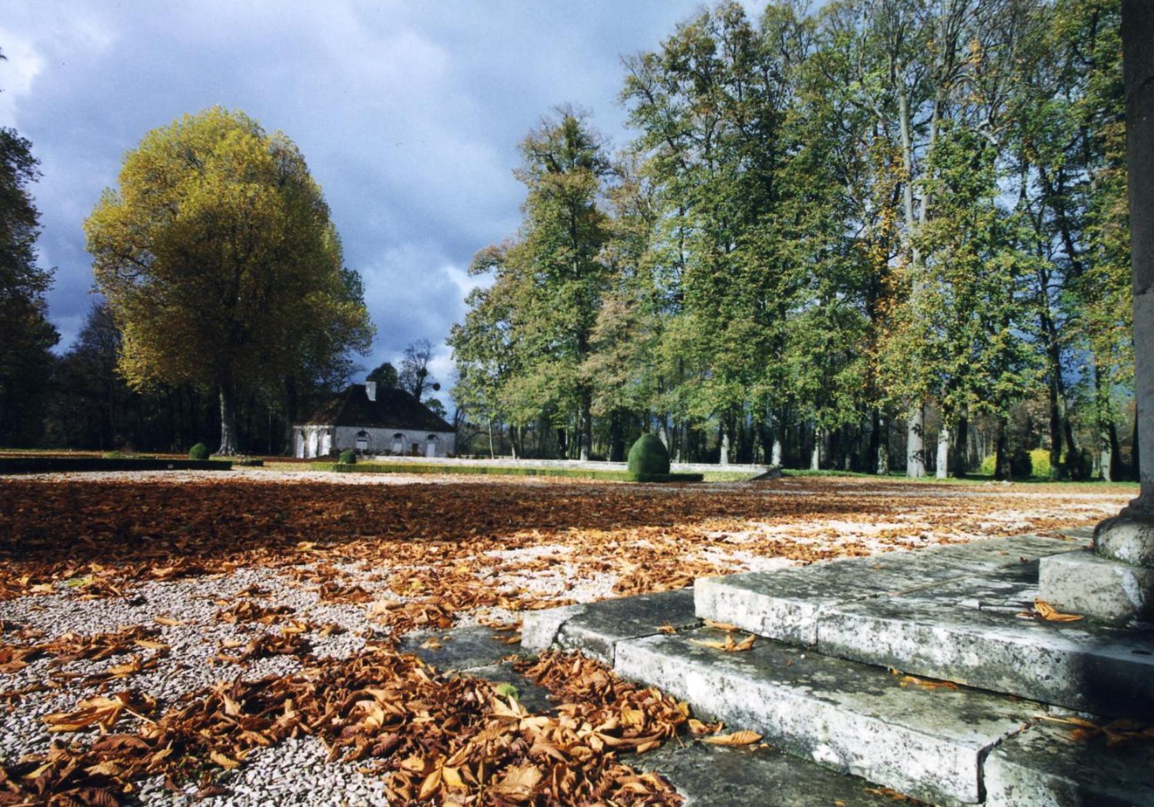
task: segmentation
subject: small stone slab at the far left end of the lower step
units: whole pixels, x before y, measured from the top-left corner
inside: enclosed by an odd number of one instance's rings
[[[535,653],[555,644],[613,664],[617,642],[651,636],[667,625],[679,631],[700,625],[694,616],[692,589],[530,611],[522,627],[522,648]]]

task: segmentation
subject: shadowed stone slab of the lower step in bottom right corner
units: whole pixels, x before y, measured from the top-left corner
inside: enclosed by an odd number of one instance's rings
[[[986,761],[989,807],[1154,805],[1154,745],[1108,748],[1102,737],[1071,739],[1074,726],[1042,722]]]

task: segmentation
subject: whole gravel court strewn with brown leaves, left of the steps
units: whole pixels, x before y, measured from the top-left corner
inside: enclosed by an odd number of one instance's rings
[[[166,790],[224,804],[238,776],[287,748],[342,787],[359,783],[367,804],[481,792],[480,804],[675,804],[628,768],[629,752],[717,731],[672,699],[547,655],[523,669],[560,706],[531,714],[397,640],[479,624],[516,653],[526,610],[931,543],[1057,537],[1133,491],[262,469],[0,477],[0,804],[151,804]],[[292,787],[291,771],[276,775]]]

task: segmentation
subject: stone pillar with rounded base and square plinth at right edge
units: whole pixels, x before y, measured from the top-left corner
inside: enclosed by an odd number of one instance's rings
[[[1122,1],[1126,187],[1141,490],[1094,530],[1094,552],[1042,559],[1040,596],[1112,624],[1154,621],[1154,2]]]

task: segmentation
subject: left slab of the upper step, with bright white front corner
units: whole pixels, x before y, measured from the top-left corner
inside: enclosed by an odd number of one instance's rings
[[[762,636],[814,644],[820,616],[845,603],[914,591],[1073,551],[1079,545],[1037,536],[991,538],[773,572],[702,578],[694,587],[696,610],[698,617],[729,623]]]

